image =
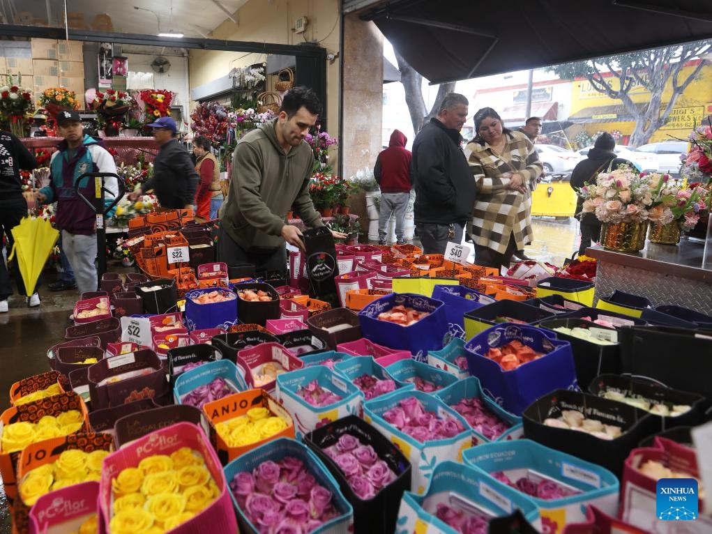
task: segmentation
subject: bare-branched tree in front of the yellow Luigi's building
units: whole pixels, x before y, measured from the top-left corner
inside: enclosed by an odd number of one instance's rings
[[[711,50],[710,41],[699,41],[682,46],[667,46],[643,52],[617,54],[589,61],[565,63],[549,70],[562,79],[586,78],[592,88],[608,98],[621,100],[625,110],[635,117],[630,145],[644,145],[651,135],[663,126],[680,95],[702,70],[704,60],[681,79],[682,69],[690,60]],[[650,100],[644,105],[634,103],[631,91],[641,86],[649,91]],[[663,93],[671,89],[670,100],[663,103]]]

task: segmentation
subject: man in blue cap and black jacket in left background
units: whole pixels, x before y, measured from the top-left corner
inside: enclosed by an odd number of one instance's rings
[[[192,207],[200,177],[188,151],[176,137],[176,122],[171,117],[160,117],[147,126],[153,128],[153,137],[161,150],[153,162],[153,177],[130,194],[129,198],[135,200],[153,189],[162,208]]]

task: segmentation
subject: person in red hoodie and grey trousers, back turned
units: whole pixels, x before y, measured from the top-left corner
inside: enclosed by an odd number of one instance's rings
[[[403,220],[408,208],[410,189],[410,160],[412,154],[406,150],[407,137],[400,130],[393,130],[388,148],[376,158],[373,176],[381,187],[381,209],[378,217],[378,244],[387,244],[388,219],[396,216],[396,244],[405,244]]]

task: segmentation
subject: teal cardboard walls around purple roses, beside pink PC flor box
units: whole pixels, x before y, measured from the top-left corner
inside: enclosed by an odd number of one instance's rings
[[[323,523],[318,528],[311,530],[311,534],[348,534],[353,530],[353,509],[344,498],[339,485],[334,477],[321,464],[310,449],[294,439],[279,438],[268,441],[266,444],[252,449],[225,466],[225,476],[232,481],[237,473],[247,471],[252,473],[260,464],[266,461],[278,462],[285,458],[294,458],[301,461],[308,474],[313,476],[315,483],[328,489],[332,493],[332,503],[337,515]],[[256,525],[251,523],[240,506],[238,499],[231,493],[232,503],[237,511],[240,532],[257,534],[260,532]],[[232,515],[232,514],[231,514]],[[236,532],[236,530],[234,531]]]

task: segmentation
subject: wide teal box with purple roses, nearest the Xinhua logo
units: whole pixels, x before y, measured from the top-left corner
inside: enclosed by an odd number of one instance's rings
[[[529,439],[483,444],[464,451],[462,456],[466,466],[506,483],[534,501],[548,533],[559,534],[567,523],[583,520],[585,504],[605,513],[617,513],[616,476],[576,456]]]

